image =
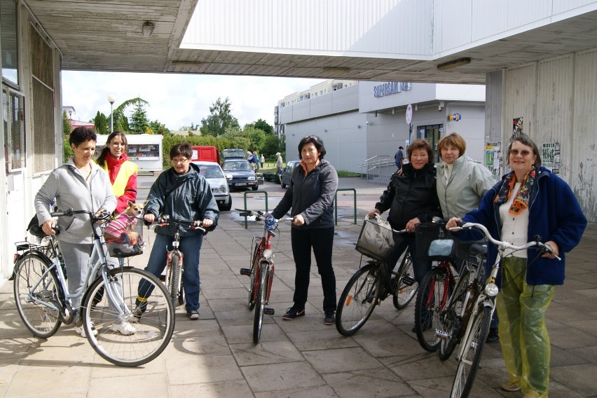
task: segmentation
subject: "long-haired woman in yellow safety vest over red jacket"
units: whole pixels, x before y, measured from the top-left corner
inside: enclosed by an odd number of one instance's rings
[[[115,131],[108,136],[106,146],[97,157],[97,164],[103,167],[110,177],[112,190],[116,196],[115,214],[122,213],[127,201],[137,199],[137,173],[139,167],[128,160],[128,143],[124,132]]]

